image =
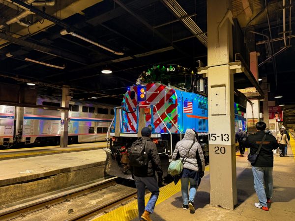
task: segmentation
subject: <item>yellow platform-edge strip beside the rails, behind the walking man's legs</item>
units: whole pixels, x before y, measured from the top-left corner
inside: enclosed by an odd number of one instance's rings
[[[180,182],[175,185],[174,183],[170,183],[165,187],[160,188],[160,195],[156,202],[156,205],[165,201],[169,197],[173,196],[174,194],[178,193],[181,189]],[[145,202],[147,204],[148,199],[151,193],[148,193],[145,197]],[[130,221],[138,217],[138,210],[137,210],[137,200],[133,200],[132,202],[119,207],[101,217],[95,218],[92,221]]]

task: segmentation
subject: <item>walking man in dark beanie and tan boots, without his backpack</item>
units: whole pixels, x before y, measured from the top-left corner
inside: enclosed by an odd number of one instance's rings
[[[149,214],[153,212],[160,193],[155,171],[158,174],[160,183],[162,180],[163,170],[156,144],[154,144],[150,139],[150,129],[148,127],[144,127],[141,134],[142,138],[147,142],[148,165],[132,166],[131,171],[137,188],[139,220],[151,221]],[[146,186],[151,192],[151,195],[149,197],[148,204],[145,207]]]

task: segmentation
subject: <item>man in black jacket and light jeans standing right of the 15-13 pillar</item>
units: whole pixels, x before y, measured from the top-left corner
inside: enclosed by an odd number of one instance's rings
[[[258,122],[256,124],[257,133],[249,135],[244,145],[250,148],[250,154],[257,152],[262,139],[266,135],[261,150],[252,165],[254,177],[254,189],[259,199],[259,203],[254,203],[257,208],[268,211],[267,203],[270,203],[272,197],[272,168],[273,168],[273,152],[278,148],[279,144],[275,137],[266,134],[266,123]]]

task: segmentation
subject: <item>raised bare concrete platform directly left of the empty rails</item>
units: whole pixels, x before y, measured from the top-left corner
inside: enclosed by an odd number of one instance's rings
[[[104,177],[105,151],[0,161],[0,206]]]

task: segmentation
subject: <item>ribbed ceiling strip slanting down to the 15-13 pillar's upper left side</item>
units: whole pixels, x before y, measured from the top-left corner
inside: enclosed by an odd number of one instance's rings
[[[196,36],[196,38],[201,41],[203,45],[207,48],[208,37],[199,28],[199,26],[192,20],[192,18],[186,13],[186,11],[178,4],[176,0],[162,0],[162,2],[172,11],[172,13],[177,17],[177,19],[184,24],[186,28]]]

